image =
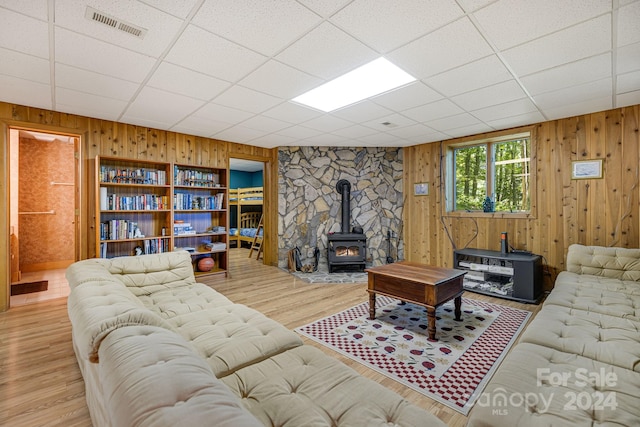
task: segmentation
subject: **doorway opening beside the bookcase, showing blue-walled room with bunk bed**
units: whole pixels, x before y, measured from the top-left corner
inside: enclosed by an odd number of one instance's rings
[[[264,234],[264,169],[255,160],[229,159],[229,247],[256,248]],[[257,235],[257,238],[256,238]],[[259,247],[259,246],[257,246]],[[248,251],[249,257],[260,259],[261,251]],[[230,257],[233,259],[233,257]],[[264,259],[264,258],[262,258]]]

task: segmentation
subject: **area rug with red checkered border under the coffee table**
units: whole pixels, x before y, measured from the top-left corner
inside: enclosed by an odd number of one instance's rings
[[[467,415],[524,328],[531,313],[462,299],[462,322],[453,301],[436,310],[436,340],[427,334],[424,307],[378,296],[369,303],[297,328],[314,341]]]

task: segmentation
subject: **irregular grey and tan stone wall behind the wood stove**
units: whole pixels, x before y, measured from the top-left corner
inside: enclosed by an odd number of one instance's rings
[[[367,266],[403,258],[402,148],[283,147],[278,151],[278,265],[298,247],[303,263],[327,269],[327,234],[341,230],[341,199],[336,183],[351,183],[351,224],[367,237]]]

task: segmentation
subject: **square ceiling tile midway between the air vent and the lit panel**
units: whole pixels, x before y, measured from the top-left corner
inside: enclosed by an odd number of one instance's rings
[[[190,25],[165,59],[168,62],[234,82],[255,70],[266,57]]]

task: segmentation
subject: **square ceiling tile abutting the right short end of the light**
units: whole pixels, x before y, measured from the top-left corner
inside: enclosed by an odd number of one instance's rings
[[[471,21],[462,18],[395,50],[388,59],[415,78],[425,79],[492,53]]]

